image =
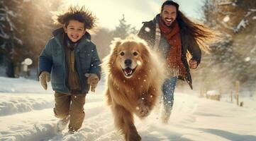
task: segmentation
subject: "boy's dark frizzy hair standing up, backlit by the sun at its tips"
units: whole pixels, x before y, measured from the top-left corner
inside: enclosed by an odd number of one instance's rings
[[[62,25],[69,24],[69,20],[78,20],[80,23],[84,23],[85,29],[91,29],[95,27],[96,17],[92,15],[91,11],[84,8],[84,6],[69,6],[68,11],[57,15],[57,23]]]

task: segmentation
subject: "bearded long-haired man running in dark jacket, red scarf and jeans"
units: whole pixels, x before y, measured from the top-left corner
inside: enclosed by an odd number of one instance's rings
[[[167,61],[167,78],[162,86],[162,123],[167,123],[174,102],[177,79],[186,80],[192,87],[189,68],[195,69],[201,61],[201,50],[208,51],[215,34],[204,25],[193,23],[179,11],[179,4],[165,1],[161,13],[153,20],[143,22],[138,37],[145,39],[153,49],[160,51]],[[204,42],[203,42],[204,41]],[[187,54],[191,59],[187,62]]]

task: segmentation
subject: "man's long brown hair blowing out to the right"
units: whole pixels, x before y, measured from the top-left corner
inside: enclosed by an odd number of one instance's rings
[[[219,33],[206,27],[206,25],[194,23],[189,20],[189,18],[184,16],[184,14],[179,11],[179,4],[174,1],[165,1],[162,4],[161,13],[165,5],[172,5],[176,7],[176,20],[179,23],[179,27],[184,31],[186,35],[189,35],[190,39],[196,40],[196,42],[199,44],[200,49],[202,49],[206,53],[209,53],[210,48],[208,46],[219,40]]]

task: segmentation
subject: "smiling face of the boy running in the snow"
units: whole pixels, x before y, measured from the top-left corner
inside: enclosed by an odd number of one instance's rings
[[[80,23],[78,20],[69,20],[67,27],[64,25],[63,28],[65,33],[67,33],[67,37],[69,37],[72,42],[77,42],[86,32],[84,23]]]

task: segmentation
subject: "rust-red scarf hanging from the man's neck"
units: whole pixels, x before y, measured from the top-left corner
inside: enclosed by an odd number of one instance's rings
[[[167,39],[171,47],[167,56],[168,67],[173,71],[178,71],[178,75],[186,75],[187,71],[182,63],[182,39],[179,34],[179,23],[175,20],[170,27],[167,27],[160,18],[159,27],[161,35]]]

